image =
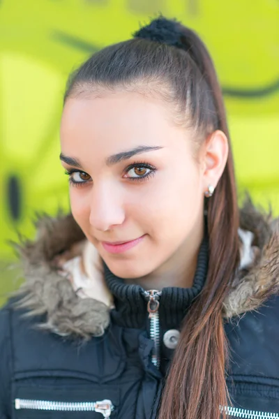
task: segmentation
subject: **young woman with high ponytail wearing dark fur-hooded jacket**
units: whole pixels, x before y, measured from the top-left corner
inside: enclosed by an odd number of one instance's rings
[[[0,418],[279,418],[278,221],[238,209],[202,41],[159,17],[64,103],[72,214],[20,248]]]

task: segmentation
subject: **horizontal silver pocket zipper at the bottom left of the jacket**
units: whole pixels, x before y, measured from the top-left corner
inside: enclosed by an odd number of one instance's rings
[[[88,411],[102,413],[104,418],[110,418],[114,405],[110,400],[102,400],[101,402],[50,402],[49,400],[15,399],[15,409]]]

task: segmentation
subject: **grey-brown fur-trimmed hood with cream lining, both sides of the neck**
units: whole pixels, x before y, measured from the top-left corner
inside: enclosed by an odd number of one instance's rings
[[[43,316],[38,327],[59,335],[86,339],[103,335],[110,323],[112,298],[97,251],[70,214],[43,216],[36,224],[36,240],[17,245],[25,281],[16,293],[16,306],[27,309],[27,316]],[[279,219],[260,213],[249,200],[241,210],[239,236],[241,265],[223,304],[225,318],[257,309],[279,292]],[[63,267],[88,249],[93,289],[81,297]]]

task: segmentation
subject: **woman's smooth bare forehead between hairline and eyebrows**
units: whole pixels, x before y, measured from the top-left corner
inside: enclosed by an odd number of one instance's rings
[[[103,158],[139,145],[179,147],[185,137],[162,100],[135,92],[68,98],[61,119],[61,149],[68,155],[83,149]]]

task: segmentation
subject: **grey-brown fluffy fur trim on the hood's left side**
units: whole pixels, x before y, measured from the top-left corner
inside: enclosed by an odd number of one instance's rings
[[[80,253],[82,230],[71,215],[44,216],[36,227],[35,242],[17,246],[26,281],[15,293],[20,297],[15,307],[27,309],[24,316],[45,316],[38,327],[62,336],[89,339],[103,335],[110,323],[109,307],[93,298],[78,297],[58,263],[60,257],[67,260]]]

